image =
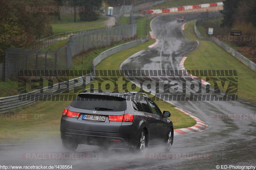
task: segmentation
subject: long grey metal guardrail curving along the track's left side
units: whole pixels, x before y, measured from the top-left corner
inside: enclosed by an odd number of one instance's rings
[[[118,45],[116,47],[110,48],[110,49],[100,53],[100,55],[97,56],[92,62],[92,70],[94,70],[95,66],[98,63],[100,63],[103,59],[107,58],[108,56],[113,55],[122,50],[134,47],[134,46],[136,46],[140,43],[143,43],[147,40],[148,40],[148,37],[145,37],[140,40],[135,40],[135,41],[127,42],[125,44]],[[86,76],[75,78],[75,79],[72,79],[69,81],[74,82],[74,80],[77,80],[77,82],[75,84],[69,85],[69,89],[72,89],[75,86],[78,87],[78,86],[82,85],[84,83],[84,81],[85,81],[85,84],[90,83],[91,75],[86,75]],[[65,83],[66,82],[63,82],[63,84],[65,84]],[[62,83],[55,84],[55,85],[53,85],[53,87],[51,89],[48,89],[48,87],[44,87],[43,93],[39,93],[39,91],[41,89],[38,89],[33,92],[28,92],[28,93],[24,93],[24,94],[20,94],[20,95],[1,97],[0,98],[0,114],[10,112],[18,107],[29,106],[29,105],[33,104],[35,102],[35,100],[40,101],[40,100],[44,100],[44,98],[47,100],[48,96],[47,95],[44,96],[44,94],[56,92],[58,89],[60,89],[59,86],[61,86],[61,84]],[[65,90],[63,90],[63,91],[65,91]],[[63,91],[54,93],[54,95],[61,94],[61,92],[63,92]],[[34,100],[31,100],[31,98],[33,98]]]

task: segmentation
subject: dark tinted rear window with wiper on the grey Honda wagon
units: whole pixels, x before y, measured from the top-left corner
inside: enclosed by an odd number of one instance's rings
[[[79,94],[71,106],[87,110],[118,112],[126,110],[126,100],[111,95]]]

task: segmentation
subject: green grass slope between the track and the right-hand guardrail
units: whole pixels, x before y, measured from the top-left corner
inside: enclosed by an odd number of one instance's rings
[[[214,42],[200,41],[194,32],[194,22],[185,25],[184,33],[189,40],[197,40],[200,45],[187,55],[186,70],[237,70],[238,97],[256,102],[256,72]]]

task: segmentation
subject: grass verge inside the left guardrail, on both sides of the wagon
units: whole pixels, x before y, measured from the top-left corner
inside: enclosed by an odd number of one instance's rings
[[[115,55],[111,55],[96,66],[96,70],[118,70],[120,64],[132,54],[146,49],[154,43],[151,39],[136,47],[121,51]],[[99,53],[100,51],[94,51]],[[0,82],[2,83],[2,82]],[[5,83],[5,82],[3,82]],[[13,85],[17,83],[8,81],[2,86]],[[85,88],[90,88],[90,84]],[[168,110],[172,116],[174,129],[193,126],[196,121],[188,115],[174,109],[174,106],[165,101],[156,101],[161,111]],[[60,141],[60,118],[64,108],[70,104],[70,101],[44,101],[36,102],[36,104],[16,110],[13,118],[25,116],[25,119],[10,120],[10,115],[0,115],[0,144],[17,144],[17,143],[48,143]],[[26,119],[27,117],[27,119]],[[35,119],[36,118],[36,119]]]

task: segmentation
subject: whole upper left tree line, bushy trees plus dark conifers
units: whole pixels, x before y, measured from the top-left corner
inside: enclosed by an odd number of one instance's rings
[[[4,50],[8,46],[28,48],[40,38],[52,35],[53,16],[61,20],[60,12],[26,12],[28,6],[87,6],[88,12],[79,13],[80,21],[98,19],[97,6],[102,0],[0,0],[0,62],[4,61]],[[74,13],[76,14],[76,13]],[[74,20],[76,21],[76,15]],[[28,36],[32,41],[15,41],[10,36]],[[35,39],[36,38],[36,39]],[[17,38],[16,38],[17,40]]]

